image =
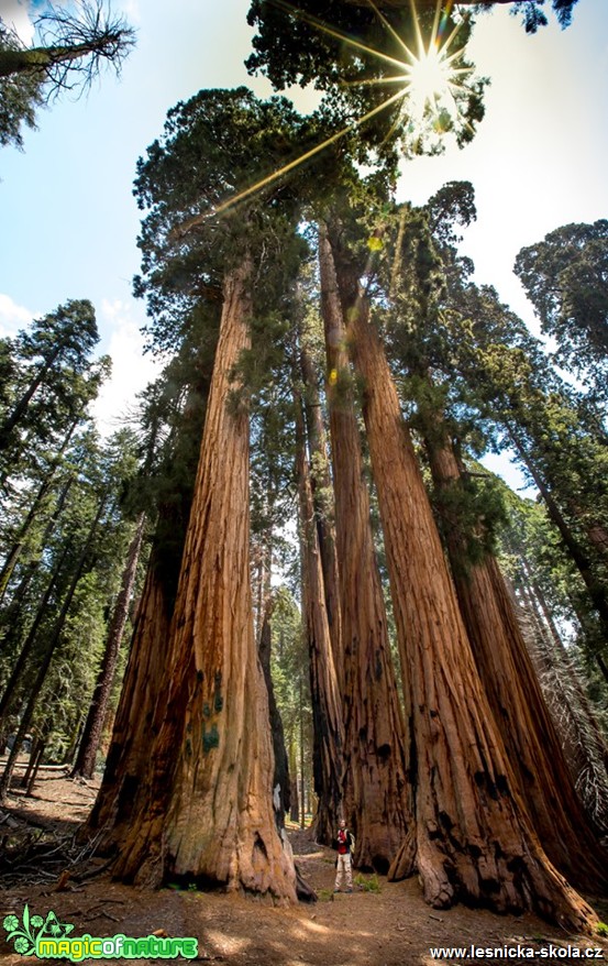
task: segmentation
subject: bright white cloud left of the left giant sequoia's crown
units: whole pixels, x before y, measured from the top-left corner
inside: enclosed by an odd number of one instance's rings
[[[92,415],[103,436],[115,432],[135,408],[135,396],[159,374],[162,365],[144,355],[140,321],[123,301],[103,300],[98,314],[104,332],[103,351],[112,359],[112,375],[101,387]]]

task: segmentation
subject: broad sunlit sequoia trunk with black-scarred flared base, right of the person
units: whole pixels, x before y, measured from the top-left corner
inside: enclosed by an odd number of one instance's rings
[[[589,930],[593,910],[543,853],[523,810],[460,615],[411,439],[347,253],[343,305],[365,381],[364,417],[378,490],[416,765],[416,849],[425,900],[534,909]]]

